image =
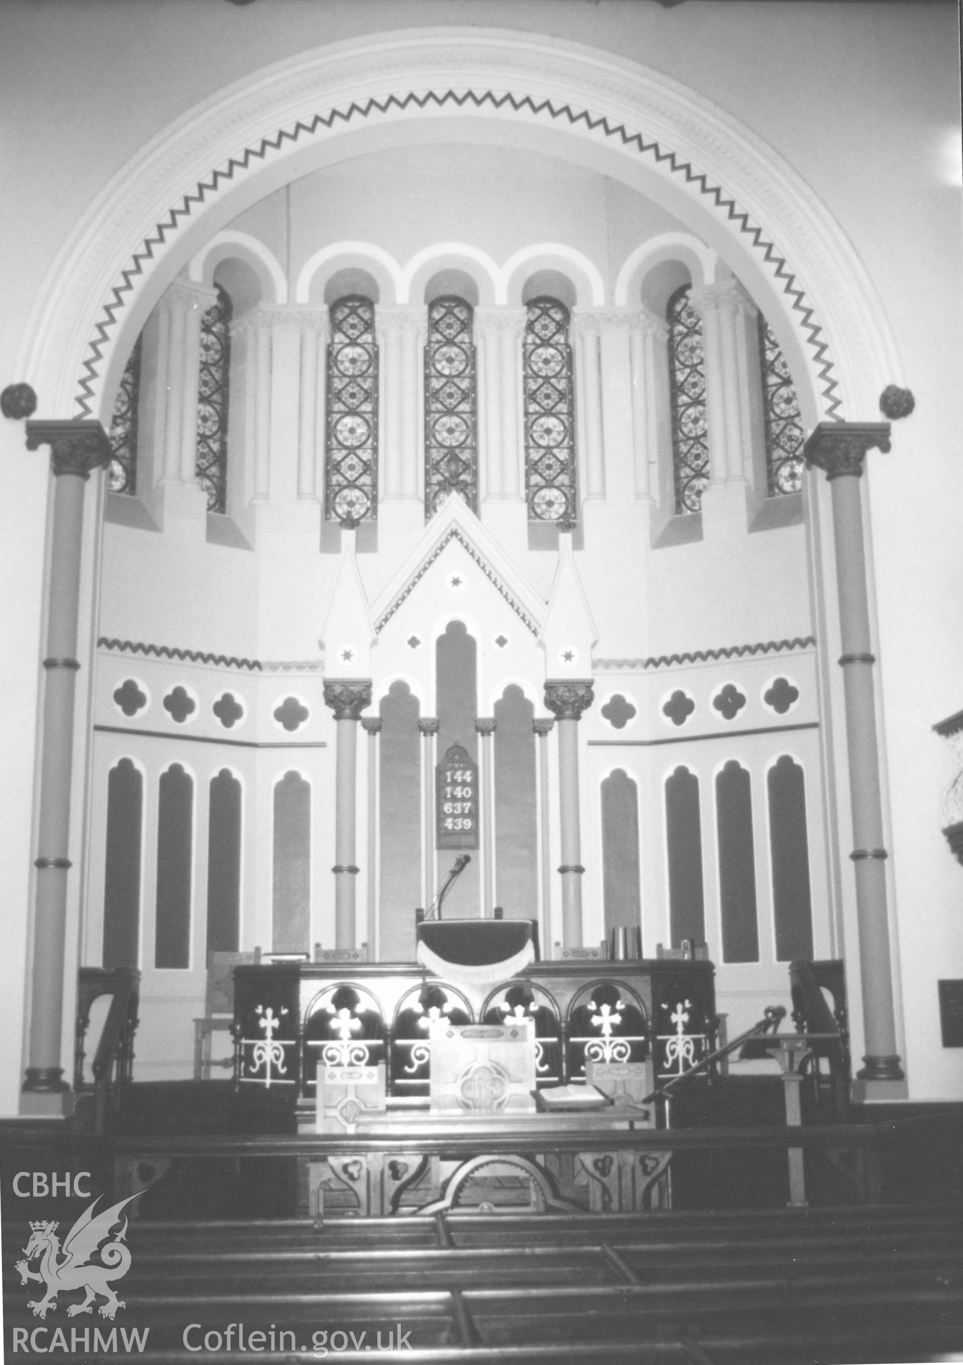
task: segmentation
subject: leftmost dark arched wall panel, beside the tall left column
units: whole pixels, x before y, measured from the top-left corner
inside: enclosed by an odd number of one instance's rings
[[[121,759],[106,779],[104,966],[136,966],[140,947],[143,777]]]

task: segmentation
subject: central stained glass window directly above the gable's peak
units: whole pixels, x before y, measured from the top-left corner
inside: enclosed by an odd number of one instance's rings
[[[424,513],[450,493],[477,512],[477,379],[472,307],[442,298],[428,306],[424,348]]]

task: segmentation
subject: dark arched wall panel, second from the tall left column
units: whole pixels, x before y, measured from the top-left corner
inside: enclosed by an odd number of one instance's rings
[[[191,965],[194,778],[180,763],[161,774],[157,797],[154,966]]]

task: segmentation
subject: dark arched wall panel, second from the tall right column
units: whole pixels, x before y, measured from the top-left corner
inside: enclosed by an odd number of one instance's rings
[[[758,962],[752,778],[735,759],[716,774],[719,909],[724,962]]]

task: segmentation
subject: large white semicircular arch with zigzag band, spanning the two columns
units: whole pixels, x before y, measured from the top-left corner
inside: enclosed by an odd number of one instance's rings
[[[237,82],[162,130],[91,203],[53,263],[27,326],[27,375],[55,411],[102,416],[132,333],[210,233],[312,164],[356,154],[360,134],[370,143],[378,130],[390,142],[415,126],[426,136],[431,120],[451,117],[486,120],[486,138],[505,138],[509,124],[521,145],[562,134],[559,154],[597,158],[606,173],[667,194],[802,366],[810,420],[863,416],[883,384],[899,382],[859,258],[753,132],[636,63],[465,29],[334,44]]]

